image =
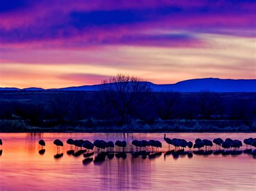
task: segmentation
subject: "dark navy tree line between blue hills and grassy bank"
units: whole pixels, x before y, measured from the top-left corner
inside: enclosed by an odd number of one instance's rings
[[[32,94],[46,97],[47,92]],[[207,90],[154,92],[139,77],[123,74],[104,80],[98,91],[56,91],[44,101],[31,97],[30,101],[1,101],[0,118],[28,119],[31,125],[41,125],[45,120],[64,123],[96,119],[123,125],[133,119],[153,123],[156,119],[256,118],[255,98]]]

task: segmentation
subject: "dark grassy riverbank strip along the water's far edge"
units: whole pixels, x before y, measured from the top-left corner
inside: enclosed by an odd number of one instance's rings
[[[0,132],[256,132],[256,120],[133,120],[119,125],[114,121],[44,121],[31,126],[27,120],[0,120]]]

